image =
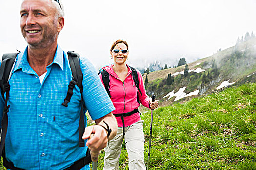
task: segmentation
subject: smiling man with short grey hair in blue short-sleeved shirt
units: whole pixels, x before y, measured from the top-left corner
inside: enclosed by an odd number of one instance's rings
[[[115,108],[87,59],[80,61],[83,104],[97,125],[85,128],[85,147],[79,147],[81,95],[77,85],[68,107],[61,105],[72,80],[68,56],[57,43],[64,26],[62,8],[59,0],[23,0],[21,5],[20,27],[28,46],[18,54],[9,80],[5,139],[6,159],[17,170],[67,169],[85,157],[87,147],[98,152],[116,135],[117,123],[111,113]],[[3,108],[0,97],[0,119]],[[107,124],[112,130],[109,138],[102,127]],[[81,170],[89,169],[86,165]]]

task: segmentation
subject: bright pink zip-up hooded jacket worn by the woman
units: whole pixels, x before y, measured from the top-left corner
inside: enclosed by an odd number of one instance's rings
[[[134,109],[139,107],[139,103],[137,102],[137,88],[133,81],[132,70],[128,67],[128,74],[125,77],[124,82],[122,82],[118,75],[114,72],[112,65],[103,67],[109,73],[109,91],[111,95],[111,100],[116,108],[112,113],[128,113],[133,111]],[[146,90],[144,87],[144,82],[141,73],[136,70],[138,73],[139,80],[139,89],[142,92],[142,95],[139,94],[140,103],[149,108],[149,97],[146,94]],[[102,82],[102,75],[99,75]],[[103,83],[103,82],[102,82]],[[118,122],[118,127],[123,127],[121,117],[116,117]],[[140,121],[139,113],[134,113],[131,116],[124,117],[124,126],[130,126],[133,123]]]

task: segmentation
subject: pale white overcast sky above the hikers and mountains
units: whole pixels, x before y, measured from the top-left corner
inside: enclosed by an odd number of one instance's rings
[[[0,56],[23,51],[22,0],[0,0]],[[111,63],[113,41],[129,45],[129,61],[204,58],[256,32],[256,0],[62,0],[59,45],[98,68]]]

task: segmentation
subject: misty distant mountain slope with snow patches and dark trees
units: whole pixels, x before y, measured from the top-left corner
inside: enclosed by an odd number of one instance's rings
[[[182,97],[190,96],[189,93],[197,96],[228,85],[255,82],[256,38],[252,37],[210,57],[189,63],[188,68],[187,76],[183,75],[185,65],[144,74],[144,80],[146,77],[148,79],[145,84],[147,93],[155,94],[163,105],[169,105],[176,101],[175,95],[181,95],[178,98],[184,100]],[[169,85],[168,74],[172,75]]]

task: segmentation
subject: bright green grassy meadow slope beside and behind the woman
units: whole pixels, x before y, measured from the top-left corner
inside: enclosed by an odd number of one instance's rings
[[[150,115],[142,114],[146,165]],[[256,170],[256,83],[154,110],[149,169]],[[128,170],[125,149],[119,170]]]

